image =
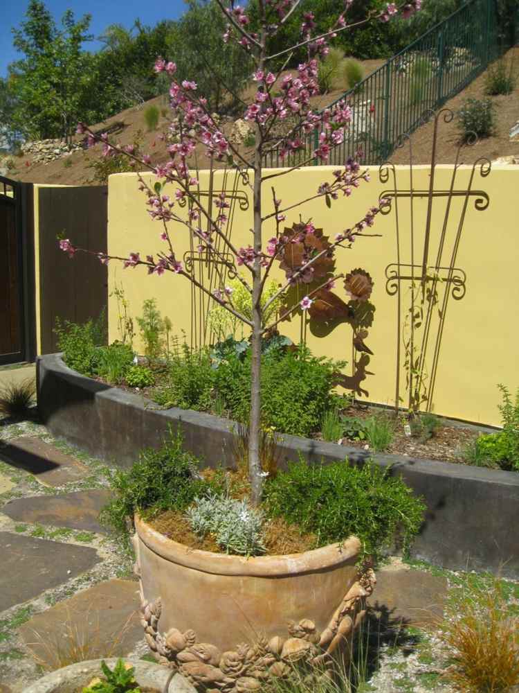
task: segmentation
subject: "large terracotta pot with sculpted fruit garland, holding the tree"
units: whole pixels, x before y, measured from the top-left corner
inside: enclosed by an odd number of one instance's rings
[[[375,584],[360,542],[287,556],[194,550],[135,518],[136,571],[149,647],[197,687],[256,690],[298,663],[331,663]]]

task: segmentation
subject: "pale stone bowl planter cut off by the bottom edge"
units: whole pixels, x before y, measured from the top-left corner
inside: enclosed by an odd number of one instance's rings
[[[110,669],[113,669],[117,659],[105,659],[104,661]],[[167,680],[172,673],[171,669],[142,660],[127,661],[134,667],[134,676],[141,687],[156,690],[157,693],[195,693],[192,685],[179,674],[174,675],[166,689]],[[24,693],[78,693],[84,686],[89,685],[95,676],[100,676],[100,672],[100,659],[79,662],[70,665],[70,667],[57,669],[51,674],[46,674],[39,681],[25,688]]]

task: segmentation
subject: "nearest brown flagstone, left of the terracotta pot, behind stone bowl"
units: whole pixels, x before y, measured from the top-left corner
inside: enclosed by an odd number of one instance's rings
[[[138,583],[112,579],[36,614],[18,632],[37,659],[74,642],[87,644],[89,659],[125,656],[144,638],[138,608]]]

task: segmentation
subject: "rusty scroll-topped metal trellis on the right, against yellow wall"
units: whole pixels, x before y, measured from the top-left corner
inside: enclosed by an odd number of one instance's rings
[[[414,186],[414,162],[412,157],[412,141],[409,136],[403,137],[399,142],[399,148],[408,145],[409,148],[409,175],[410,189],[401,190],[397,186],[397,172],[390,161],[379,168],[379,179],[383,184],[392,180],[392,188],[381,193],[381,213],[389,214],[394,209],[397,240],[397,261],[390,263],[385,268],[386,291],[390,296],[397,296],[397,377],[395,392],[395,410],[398,412],[400,396],[400,371],[402,347],[406,354],[404,367],[407,371],[408,407],[412,412],[417,412],[425,403],[426,410],[432,410],[433,394],[437,379],[441,342],[444,335],[444,326],[447,314],[449,298],[455,301],[461,300],[466,293],[466,274],[464,270],[456,266],[459,244],[464,229],[466,211],[475,198],[475,209],[481,211],[489,206],[489,196],[483,190],[473,188],[476,173],[480,177],[486,177],[491,170],[489,159],[480,157],[472,168],[468,179],[468,185],[462,189],[456,188],[457,174],[461,163],[459,157],[462,146],[471,146],[477,141],[475,134],[465,143],[459,143],[456,151],[455,165],[450,176],[450,185],[446,190],[435,189],[435,174],[437,167],[437,135],[439,123],[448,123],[453,120],[454,114],[449,109],[427,112],[424,122],[433,119],[432,155],[430,161],[430,183],[428,190],[419,190]],[[415,202],[419,198],[427,198],[427,213],[425,231],[422,238],[417,236],[417,213]],[[441,198],[446,200],[443,211],[435,207],[433,216],[433,202]],[[454,200],[459,198],[461,209],[456,209]],[[406,233],[401,225],[400,205],[409,200],[410,233]],[[436,221],[437,220],[437,221]],[[439,230],[439,236],[432,235],[432,231]],[[432,247],[437,241],[437,246]],[[420,254],[421,249],[421,254]],[[403,288],[409,287],[410,303],[404,304]],[[403,319],[403,316],[406,316]],[[437,324],[435,323],[437,315]],[[420,333],[421,331],[421,333]],[[432,359],[428,359],[428,351],[432,349]],[[428,364],[430,372],[428,375]],[[426,383],[427,378],[428,384]]]

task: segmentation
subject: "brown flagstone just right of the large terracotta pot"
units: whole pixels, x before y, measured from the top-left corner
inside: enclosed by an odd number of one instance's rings
[[[447,579],[424,570],[382,568],[369,603],[390,626],[434,626],[444,613]]]

